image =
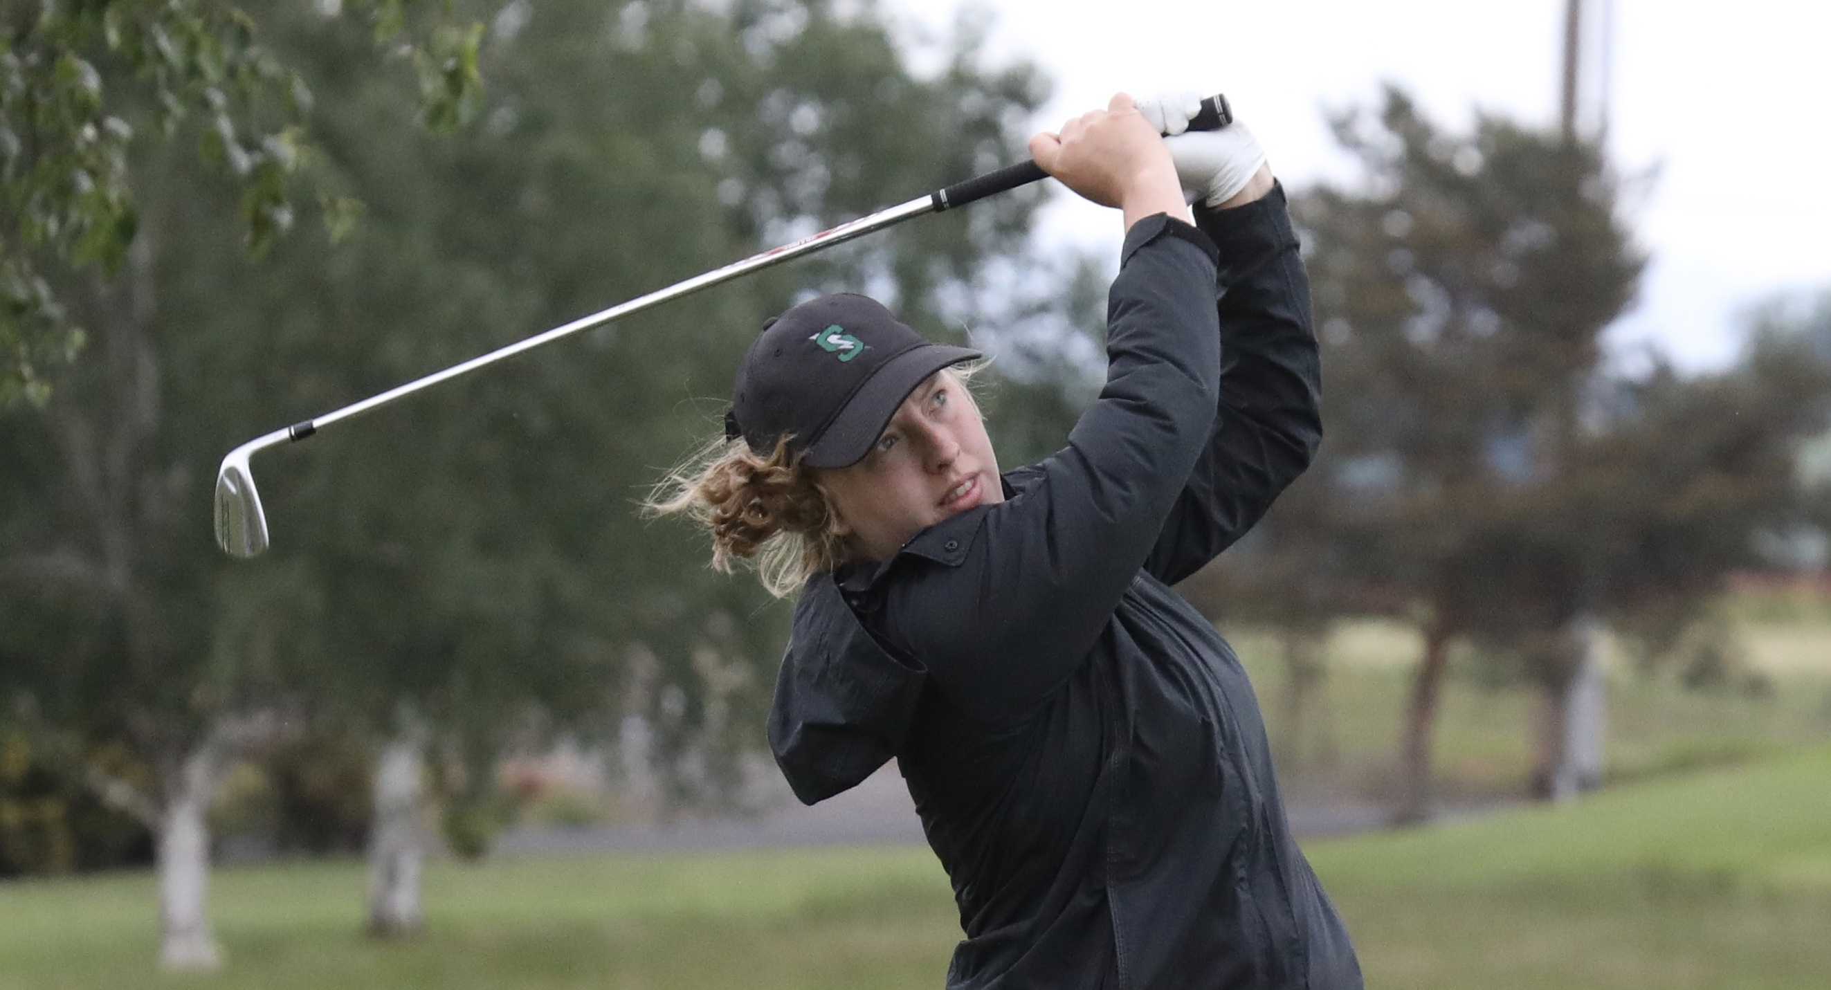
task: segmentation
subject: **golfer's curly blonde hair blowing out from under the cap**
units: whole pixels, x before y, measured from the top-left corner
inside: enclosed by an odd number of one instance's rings
[[[976,399],[980,386],[972,377],[985,364],[956,364],[947,373]],[[789,452],[789,437],[762,456],[742,437],[720,434],[655,483],[643,500],[643,512],[687,516],[703,525],[712,533],[714,571],[729,575],[740,560],[747,562],[771,595],[787,598],[807,578],[837,569],[851,554],[839,531],[839,512],[817,474]]]

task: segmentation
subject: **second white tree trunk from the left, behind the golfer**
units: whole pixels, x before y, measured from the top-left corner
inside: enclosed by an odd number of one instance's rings
[[[390,939],[419,931],[419,875],[425,834],[419,827],[421,732],[395,734],[375,769],[375,823],[368,840],[368,931]]]

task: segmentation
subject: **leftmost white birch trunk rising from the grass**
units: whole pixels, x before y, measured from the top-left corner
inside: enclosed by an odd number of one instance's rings
[[[159,964],[167,970],[216,970],[222,946],[205,911],[211,834],[205,818],[216,791],[209,745],[185,756],[165,791],[159,818]]]

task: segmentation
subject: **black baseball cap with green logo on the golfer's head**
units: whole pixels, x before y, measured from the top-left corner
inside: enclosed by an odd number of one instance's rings
[[[864,459],[903,399],[980,351],[930,344],[870,296],[833,293],[764,324],[738,366],[725,439],[767,456],[784,434],[807,467]]]

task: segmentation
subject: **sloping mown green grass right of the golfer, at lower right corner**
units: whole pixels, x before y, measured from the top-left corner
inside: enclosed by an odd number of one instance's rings
[[[1827,780],[1816,748],[1313,858],[1370,986],[1824,986]]]

